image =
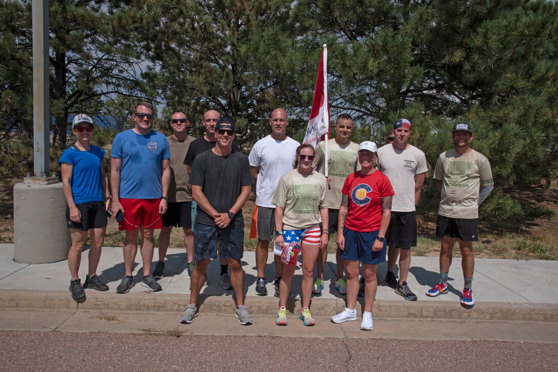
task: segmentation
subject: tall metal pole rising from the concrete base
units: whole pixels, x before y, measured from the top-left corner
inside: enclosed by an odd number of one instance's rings
[[[50,171],[49,114],[49,1],[33,0],[33,171]]]

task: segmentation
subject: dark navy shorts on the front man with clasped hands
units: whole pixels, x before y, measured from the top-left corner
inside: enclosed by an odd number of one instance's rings
[[[217,226],[194,223],[195,260],[217,258],[217,242],[221,258],[239,260],[244,255],[244,228],[219,229]]]

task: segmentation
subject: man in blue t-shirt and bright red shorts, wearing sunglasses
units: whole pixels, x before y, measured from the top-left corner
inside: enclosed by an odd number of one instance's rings
[[[170,183],[170,151],[167,138],[151,129],[153,107],[140,102],[134,109],[134,128],[118,133],[110,154],[110,188],[112,212],[118,229],[126,231],[124,239],[124,277],[116,293],[127,293],[134,286],[132,267],[141,233],[143,262],[142,286],[161,291],[151,275],[153,230],[161,229],[161,215],[167,210]],[[120,220],[120,216],[123,219]]]

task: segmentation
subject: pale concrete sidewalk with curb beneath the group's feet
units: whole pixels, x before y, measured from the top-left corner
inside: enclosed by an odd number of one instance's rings
[[[105,247],[98,267],[100,279],[110,290],[86,290],[86,300],[76,303],[68,290],[70,273],[64,260],[49,264],[20,264],[13,261],[13,244],[0,244],[0,307],[49,308],[67,310],[118,310],[118,311],[167,311],[180,313],[189,301],[190,279],[186,270],[184,249],[169,249],[165,277],[160,279],[162,292],[152,293],[141,286],[141,257],[138,253],[134,264],[134,283],[129,293],[117,294],[123,274],[122,248]],[[87,252],[81,259],[82,282],[87,273]],[[278,297],[273,289],[275,265],[272,253],[266,266],[268,296],[256,296],[256,257],[254,252],[244,253],[242,259],[246,272],[244,289],[246,305],[253,315],[273,316],[277,313]],[[476,305],[464,308],[459,305],[463,287],[460,258],[454,258],[450,271],[449,292],[436,298],[425,295],[439,278],[437,257],[413,257],[408,284],[419,297],[418,301],[405,301],[383,282],[386,263],[378,268],[378,292],[374,316],[388,318],[422,319],[476,319],[558,322],[558,262],[543,260],[476,259],[473,293]],[[152,265],[152,269],[155,264]],[[335,257],[328,257],[325,270],[326,288],[320,296],[312,297],[314,316],[331,316],[343,310],[344,296],[334,288]],[[299,264],[300,268],[300,264]],[[233,292],[219,286],[219,263],[211,260],[208,268],[208,286],[200,296],[200,313],[229,313],[234,307]],[[397,274],[397,272],[396,272]],[[293,280],[289,310],[300,311],[300,269]],[[275,295],[275,296],[274,296]],[[359,298],[359,308],[363,299]]]

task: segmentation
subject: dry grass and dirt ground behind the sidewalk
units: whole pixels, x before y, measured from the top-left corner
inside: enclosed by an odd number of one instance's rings
[[[558,216],[558,188],[515,188],[508,193],[513,199],[527,206],[545,206]],[[246,250],[256,248],[256,239],[249,239],[249,228],[254,209],[254,194],[243,207],[246,221]],[[439,239],[435,234],[436,214],[417,213],[419,239],[413,255],[435,257],[439,254]],[[558,260],[558,229],[556,220],[546,218],[511,218],[504,221],[480,221],[480,240],[474,244],[475,257],[508,259],[550,259]],[[328,251],[335,252],[335,234],[331,235]],[[104,245],[119,247],[124,234],[118,231],[114,220],[109,222]],[[13,193],[4,187],[0,189],[0,243],[13,243]],[[156,242],[157,243],[157,242]],[[157,245],[157,244],[156,244]],[[184,247],[178,229],[171,235],[171,247]],[[459,249],[455,247],[455,254]]]

